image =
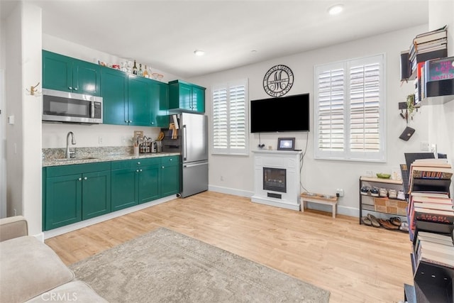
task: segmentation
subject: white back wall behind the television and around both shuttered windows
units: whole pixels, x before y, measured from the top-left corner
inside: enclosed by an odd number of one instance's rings
[[[294,84],[288,94],[311,94],[311,129],[309,140],[307,133],[262,133],[261,141],[265,145],[276,148],[277,138],[282,136],[296,137],[296,148],[304,150],[304,167],[301,172],[301,183],[310,192],[326,194],[336,193],[342,188],[345,196],[340,199],[339,212],[343,214],[358,214],[358,179],[366,171],[391,172],[392,167],[399,167],[405,162],[405,152],[421,151],[421,141],[428,141],[428,110],[420,109],[409,121],[409,126],[416,128],[416,133],[409,141],[402,141],[399,135],[406,127],[406,121],[399,116],[398,102],[406,101],[406,95],[413,93],[413,84],[400,83],[399,55],[402,50],[408,50],[412,39],[418,33],[427,31],[427,26],[418,26],[403,31],[377,35],[350,43],[300,53],[288,57],[276,58],[255,65],[240,67],[226,72],[197,77],[190,81],[207,87],[206,113],[211,113],[211,86],[232,79],[249,79],[249,99],[267,97],[262,88],[262,79],[270,67],[278,64],[287,65],[294,72]],[[384,53],[386,55],[386,129],[387,129],[387,162],[346,162],[314,160],[314,65],[336,62],[354,57],[364,57]],[[258,134],[250,134],[250,150],[257,149]],[[253,192],[253,157],[230,157],[225,155],[210,155],[209,184],[213,190],[221,192]],[[222,180],[221,180],[222,176]]]

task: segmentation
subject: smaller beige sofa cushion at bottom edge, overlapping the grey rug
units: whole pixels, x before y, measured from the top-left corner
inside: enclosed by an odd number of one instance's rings
[[[106,299],[103,299],[99,294],[96,294],[92,287],[89,287],[85,282],[78,280],[61,285],[27,301],[27,303],[31,302],[107,303]]]

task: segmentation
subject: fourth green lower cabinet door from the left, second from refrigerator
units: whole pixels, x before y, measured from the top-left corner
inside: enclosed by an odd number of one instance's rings
[[[160,197],[160,166],[147,165],[139,168],[139,203]]]

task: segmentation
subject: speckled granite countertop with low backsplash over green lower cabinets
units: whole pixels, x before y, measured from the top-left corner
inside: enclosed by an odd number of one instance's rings
[[[96,163],[118,160],[145,159],[155,157],[165,157],[172,155],[180,155],[179,153],[140,153],[138,156],[133,155],[128,149],[112,150],[112,148],[80,148],[76,152],[76,158],[66,159],[62,154],[61,148],[43,149],[43,167],[73,165],[84,163]]]

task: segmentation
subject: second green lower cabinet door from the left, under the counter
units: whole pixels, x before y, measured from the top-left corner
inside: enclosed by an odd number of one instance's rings
[[[82,175],[82,220],[111,211],[111,171]]]

